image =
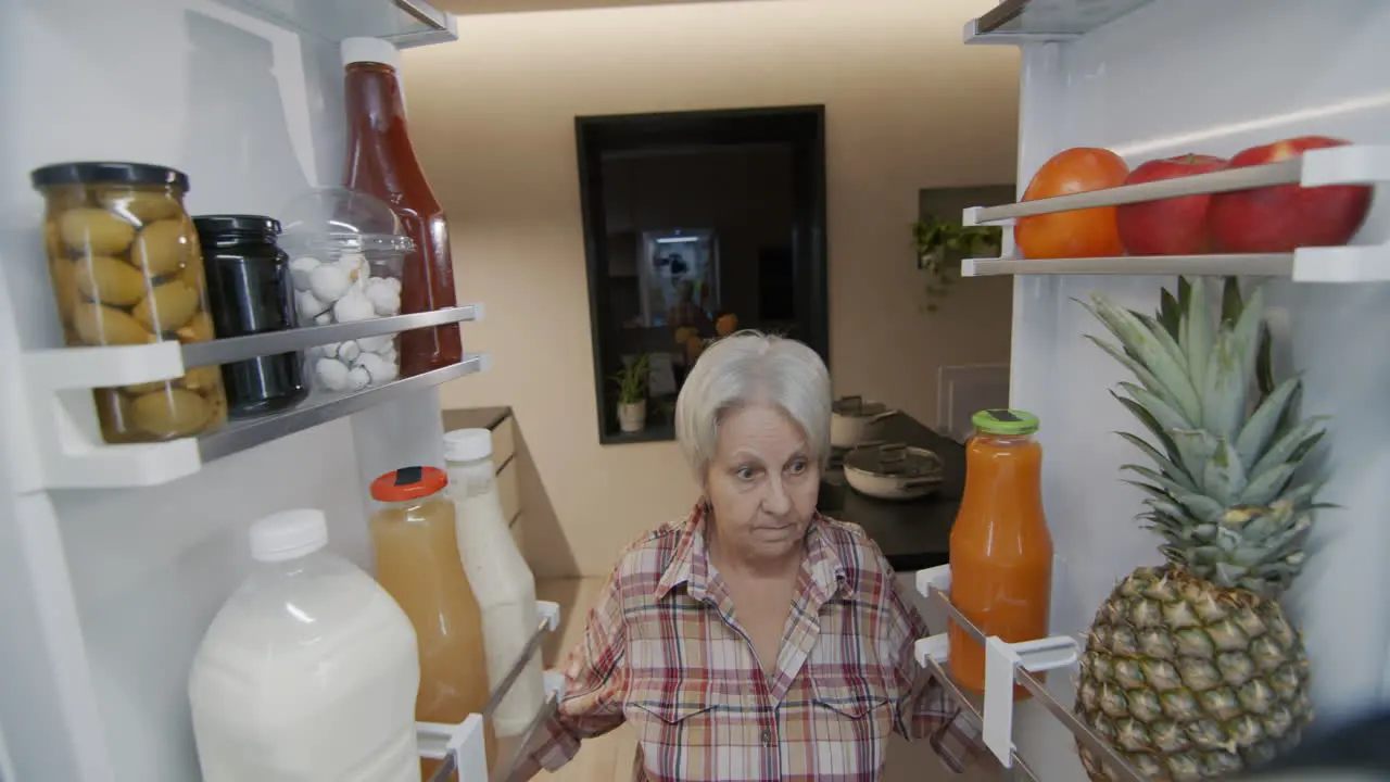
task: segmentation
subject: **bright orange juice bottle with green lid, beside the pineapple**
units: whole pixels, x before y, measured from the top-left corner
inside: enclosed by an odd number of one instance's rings
[[[980,410],[970,419],[965,497],[951,527],[951,603],[986,636],[1017,643],[1047,636],[1052,536],[1042,516],[1038,419],[1023,410]],[[951,623],[951,672],[984,692],[984,646]],[[1015,686],[1015,699],[1027,690]]]

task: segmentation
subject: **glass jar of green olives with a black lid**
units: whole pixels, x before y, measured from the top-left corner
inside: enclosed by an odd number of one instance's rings
[[[188,175],[142,163],[60,163],[29,175],[68,345],[213,338],[203,256],[183,210]],[[227,422],[218,367],[95,391],[107,442],[154,442]]]

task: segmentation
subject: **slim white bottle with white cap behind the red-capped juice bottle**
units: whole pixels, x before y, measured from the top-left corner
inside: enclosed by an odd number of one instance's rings
[[[496,690],[539,625],[535,576],[517,551],[507,519],[502,515],[492,466],[492,433],[485,429],[445,433],[443,458],[449,470],[459,558],[482,609],[488,682]],[[535,654],[493,712],[492,726],[498,736],[524,732],[543,699],[541,655]]]

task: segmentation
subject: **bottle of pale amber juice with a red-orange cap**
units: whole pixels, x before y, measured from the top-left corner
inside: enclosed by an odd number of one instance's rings
[[[449,479],[436,468],[402,468],[371,481],[377,582],[400,604],[420,644],[420,722],[463,722],[488,703],[482,612],[459,561]],[[496,757],[492,725],[488,758]],[[430,779],[439,761],[421,761]]]

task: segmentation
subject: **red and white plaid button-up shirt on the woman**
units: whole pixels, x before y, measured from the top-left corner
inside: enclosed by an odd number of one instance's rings
[[[564,765],[581,739],[623,722],[637,732],[638,782],[873,781],[894,731],[935,733],[942,760],[963,767],[977,731],[913,660],[927,628],[858,525],[813,519],[764,675],[703,520],[698,505],[623,552],[563,665],[557,715],[513,778]]]

